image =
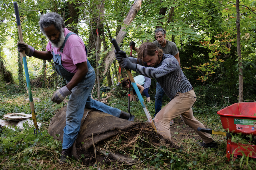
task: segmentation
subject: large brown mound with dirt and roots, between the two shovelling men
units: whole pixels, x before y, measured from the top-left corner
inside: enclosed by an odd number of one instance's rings
[[[65,117],[66,107],[63,107],[51,119],[48,129],[49,134],[60,141],[63,139],[63,128],[66,125]],[[72,155],[88,165],[102,160],[131,164],[137,160],[132,159],[126,150],[131,150],[141,142],[150,146],[164,145],[166,148],[178,148],[171,140],[158,134],[149,123],[130,122],[106,113],[85,109]]]

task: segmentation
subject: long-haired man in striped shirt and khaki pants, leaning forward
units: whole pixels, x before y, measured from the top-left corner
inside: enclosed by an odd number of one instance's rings
[[[127,57],[124,51],[116,52],[116,59],[122,68],[132,69],[146,77],[155,78],[170,97],[171,101],[154,119],[158,133],[170,138],[169,123],[180,115],[184,123],[192,127],[202,138],[203,142],[199,143],[201,146],[218,147],[210,134],[197,130],[198,127],[205,127],[193,115],[192,106],[196,101],[196,94],[173,55],[162,53],[162,49],[153,43],[145,42],[138,49],[138,59]]]

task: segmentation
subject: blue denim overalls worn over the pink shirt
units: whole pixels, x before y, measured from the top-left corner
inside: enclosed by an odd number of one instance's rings
[[[75,34],[75,33],[70,32],[67,34],[63,45],[60,47],[61,53],[63,52],[63,48],[65,46],[65,43],[68,37],[72,34]],[[74,73],[67,71],[62,66],[61,54],[54,54],[53,51],[51,52],[53,55],[53,61],[54,61],[54,65],[57,73],[63,76],[66,79],[66,83],[68,83],[74,76]],[[86,49],[86,53],[87,53],[87,49]],[[63,129],[62,149],[70,148],[73,145],[80,129],[81,120],[84,115],[84,108],[94,109],[96,111],[102,111],[104,113],[108,113],[110,115],[120,117],[121,111],[119,109],[110,107],[108,105],[105,105],[104,103],[95,101],[91,98],[91,91],[95,83],[95,71],[90,65],[88,59],[87,59],[87,67],[88,67],[88,72],[86,73],[86,75],[71,90],[72,93],[69,97],[67,111],[66,111],[66,127]]]

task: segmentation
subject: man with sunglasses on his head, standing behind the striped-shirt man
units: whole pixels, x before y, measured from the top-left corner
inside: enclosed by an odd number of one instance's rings
[[[165,54],[173,55],[180,65],[180,54],[177,45],[174,42],[166,40],[166,31],[163,28],[157,28],[155,30],[155,37],[156,40],[153,42],[159,49],[163,50]],[[138,47],[135,47],[134,42],[130,42],[129,45],[132,45],[132,49],[138,52]],[[160,84],[156,82],[156,95],[155,95],[155,115],[161,110],[162,108],[162,98],[164,96],[164,91]],[[174,121],[170,121],[170,125],[173,125]]]

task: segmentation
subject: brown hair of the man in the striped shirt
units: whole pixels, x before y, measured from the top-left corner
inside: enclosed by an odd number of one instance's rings
[[[142,59],[146,57],[146,55],[154,56],[156,54],[156,50],[159,53],[159,57],[163,57],[163,50],[159,49],[155,44],[151,42],[144,42],[142,45],[140,45],[138,50],[138,59]]]

